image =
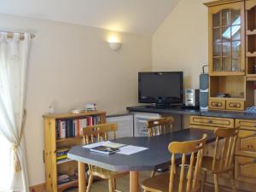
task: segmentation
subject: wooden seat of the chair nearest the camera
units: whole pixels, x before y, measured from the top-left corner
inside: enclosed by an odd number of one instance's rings
[[[169,180],[170,180],[170,173],[166,172],[166,173],[160,174],[158,176],[150,177],[150,178],[144,180],[142,183],[142,186],[143,186],[143,189],[146,191],[169,192]],[[174,183],[173,191],[178,191],[179,175],[177,175],[177,177],[174,177],[173,183]],[[186,191],[186,184],[187,184],[187,180],[184,179],[183,180],[183,191]],[[200,190],[200,184],[199,184],[199,186],[197,186],[197,188],[195,190],[193,190],[193,192],[199,191],[199,190]],[[192,190],[191,190],[191,192],[192,192]]]

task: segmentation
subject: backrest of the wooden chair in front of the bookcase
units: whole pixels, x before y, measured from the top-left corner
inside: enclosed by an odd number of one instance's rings
[[[110,135],[112,139],[116,138],[118,125],[115,123],[90,125],[83,128],[84,144],[107,141]]]

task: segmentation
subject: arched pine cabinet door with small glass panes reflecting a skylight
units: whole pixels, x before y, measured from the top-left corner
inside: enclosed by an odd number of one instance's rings
[[[210,75],[245,74],[244,4],[209,8]]]

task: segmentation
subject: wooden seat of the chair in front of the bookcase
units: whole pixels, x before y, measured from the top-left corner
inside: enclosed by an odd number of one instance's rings
[[[102,177],[103,179],[111,179],[115,177],[122,177],[129,172],[112,172],[107,169],[102,169],[101,167],[98,166],[93,166],[89,170],[89,175],[93,175],[96,177]]]

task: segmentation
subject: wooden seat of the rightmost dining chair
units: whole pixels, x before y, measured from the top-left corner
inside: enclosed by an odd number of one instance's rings
[[[202,166],[201,166],[202,169],[206,170],[207,172],[210,172],[212,174],[227,172],[227,171],[233,169],[233,165],[228,166],[226,168],[221,167],[220,160],[216,160],[214,170],[212,170],[212,161],[213,161],[212,157],[204,156],[203,160],[202,160]]]

